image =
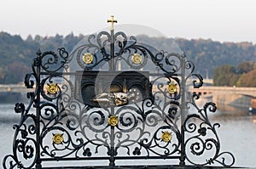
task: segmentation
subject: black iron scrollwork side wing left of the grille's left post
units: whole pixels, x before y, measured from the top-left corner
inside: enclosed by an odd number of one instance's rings
[[[14,154],[4,157],[3,168],[32,168],[37,160],[36,116],[28,114],[24,104],[15,104],[15,112],[20,113],[21,117],[20,123],[14,126]]]

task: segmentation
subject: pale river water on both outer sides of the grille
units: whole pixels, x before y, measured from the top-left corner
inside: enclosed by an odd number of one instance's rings
[[[15,114],[14,107],[14,104],[0,104],[1,166],[3,157],[12,154],[15,133],[12,127],[20,118],[19,114]],[[221,149],[235,156],[234,166],[256,167],[256,115],[249,115],[247,110],[218,106],[217,112],[210,119],[212,123],[220,123],[218,137]]]

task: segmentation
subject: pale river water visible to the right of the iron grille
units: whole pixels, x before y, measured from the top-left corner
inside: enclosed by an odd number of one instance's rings
[[[218,110],[210,116],[212,122],[220,123],[218,135],[222,149],[236,157],[235,166],[256,166],[256,115],[245,108],[217,104]]]

